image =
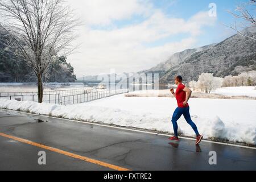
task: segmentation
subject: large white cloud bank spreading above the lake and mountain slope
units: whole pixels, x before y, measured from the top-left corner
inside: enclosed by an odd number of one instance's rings
[[[208,12],[199,12],[188,20],[172,18],[161,10],[152,9],[152,5],[145,1],[83,1],[81,7],[85,5],[84,11],[90,25],[106,26],[112,24],[113,20],[129,19],[134,14],[143,15],[144,20],[110,30],[93,30],[89,25],[83,27],[79,39],[82,42],[80,53],[68,57],[78,77],[109,72],[111,68],[118,73],[151,68],[172,53],[195,46],[202,27],[212,26],[216,22],[216,18],[209,17]],[[188,36],[154,46],[155,41],[181,33]],[[153,46],[146,46],[148,43]]]

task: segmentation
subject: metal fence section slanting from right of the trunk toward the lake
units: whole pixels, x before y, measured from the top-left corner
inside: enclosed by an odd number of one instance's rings
[[[100,92],[90,92],[83,94],[75,94],[71,96],[61,96],[60,105],[80,104],[127,92],[129,92],[129,89],[104,90]]]

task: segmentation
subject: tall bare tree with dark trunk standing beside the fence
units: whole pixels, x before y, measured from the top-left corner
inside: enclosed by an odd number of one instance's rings
[[[9,34],[24,61],[38,77],[38,102],[43,102],[43,77],[57,55],[68,55],[76,47],[79,21],[63,0],[1,0],[0,28]]]

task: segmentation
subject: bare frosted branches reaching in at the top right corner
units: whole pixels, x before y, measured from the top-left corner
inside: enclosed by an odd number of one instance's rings
[[[232,14],[235,18],[240,20],[240,23],[238,25],[239,27],[237,27],[237,22],[235,22],[233,26],[229,26],[229,27],[237,31],[238,34],[256,41],[256,38],[252,36],[248,36],[239,30],[239,28],[251,28],[251,27],[256,28],[256,17],[255,17],[256,0],[250,0],[247,3],[241,3],[240,6],[237,6],[236,11],[237,13],[233,13],[231,11],[228,11],[228,12]]]

